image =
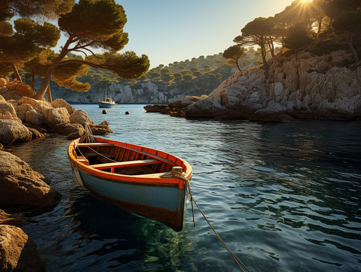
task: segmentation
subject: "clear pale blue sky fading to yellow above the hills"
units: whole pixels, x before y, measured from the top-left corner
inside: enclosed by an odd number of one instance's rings
[[[257,17],[274,16],[292,0],[116,0],[123,5],[129,43],[120,51],[146,54],[151,68],[223,52]],[[65,43],[62,37],[55,51]],[[78,53],[78,52],[74,52]]]

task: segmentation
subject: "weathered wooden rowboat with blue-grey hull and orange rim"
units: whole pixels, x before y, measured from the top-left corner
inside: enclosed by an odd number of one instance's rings
[[[170,171],[178,167],[190,180],[191,165],[152,148],[92,139],[93,143],[75,139],[69,145],[68,159],[77,184],[123,210],[181,231],[187,182]]]

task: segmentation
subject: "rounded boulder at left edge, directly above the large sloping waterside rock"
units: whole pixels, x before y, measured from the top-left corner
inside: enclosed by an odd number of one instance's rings
[[[32,133],[23,124],[14,120],[0,120],[0,143],[29,141]]]

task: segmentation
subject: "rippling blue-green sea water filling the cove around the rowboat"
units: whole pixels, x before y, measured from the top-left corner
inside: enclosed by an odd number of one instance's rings
[[[193,197],[252,272],[360,271],[360,121],[197,120],[143,105],[107,115],[74,106],[107,120],[114,134],[106,138],[187,160]],[[198,210],[193,228],[190,202],[177,233],[77,187],[68,144],[57,136],[11,147],[62,194],[55,208],[24,214],[47,271],[239,271]]]

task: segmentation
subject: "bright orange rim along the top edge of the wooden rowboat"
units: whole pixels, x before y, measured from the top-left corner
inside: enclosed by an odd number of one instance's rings
[[[155,156],[162,156],[163,158],[167,158],[167,160],[174,161],[175,166],[181,166],[183,172],[185,172],[186,177],[190,179],[192,177],[192,167],[189,163],[187,163],[185,160],[182,160],[181,158],[171,155],[167,152],[162,152],[156,149],[137,146],[135,144],[128,144],[128,143],[122,143],[117,141],[112,141],[108,139],[103,138],[96,138],[97,142],[100,143],[113,143],[113,144],[120,144],[122,146],[127,146],[133,149],[136,149],[138,151],[147,152],[149,154],[155,155]],[[179,178],[160,178],[158,177],[135,177],[135,176],[126,176],[121,174],[115,174],[115,173],[108,173],[101,170],[93,169],[89,167],[88,165],[82,163],[77,159],[77,155],[75,152],[75,148],[77,147],[77,144],[79,143],[79,139],[75,139],[73,142],[70,143],[68,148],[68,158],[70,162],[74,163],[79,169],[83,169],[87,172],[90,172],[96,176],[101,176],[113,180],[118,181],[129,181],[129,182],[149,182],[149,183],[165,183],[165,184],[179,184],[180,189],[184,189],[185,181],[181,180]]]

